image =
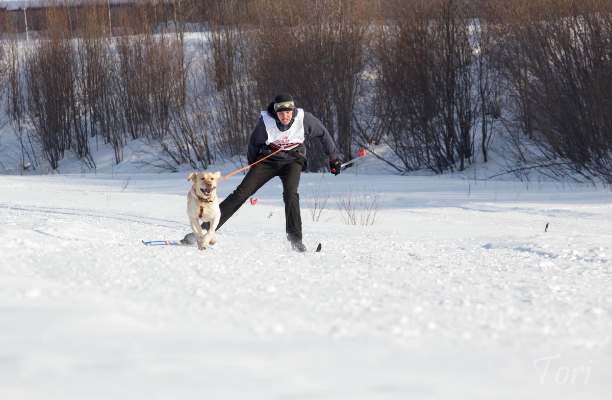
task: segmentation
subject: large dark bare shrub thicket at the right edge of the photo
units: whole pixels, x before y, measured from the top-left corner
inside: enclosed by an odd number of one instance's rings
[[[523,132],[509,137],[524,167],[612,182],[612,4],[541,0],[502,12],[518,94],[508,126]]]

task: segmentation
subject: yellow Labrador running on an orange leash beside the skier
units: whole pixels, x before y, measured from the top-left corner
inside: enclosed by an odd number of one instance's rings
[[[187,194],[187,215],[193,234],[198,241],[198,248],[206,250],[207,245],[215,244],[215,229],[221,218],[217,199],[217,179],[221,172],[192,172],[187,180],[193,180],[193,186]],[[206,231],[200,226],[200,220],[210,222]]]

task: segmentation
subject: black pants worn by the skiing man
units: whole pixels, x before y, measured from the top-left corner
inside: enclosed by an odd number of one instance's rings
[[[263,160],[253,165],[236,190],[220,204],[221,220],[219,229],[234,213],[242,207],[248,198],[275,176],[283,183],[283,201],[285,202],[285,230],[289,242],[302,241],[302,216],[300,215],[300,196],[297,187],[300,183],[302,165],[298,161]]]

